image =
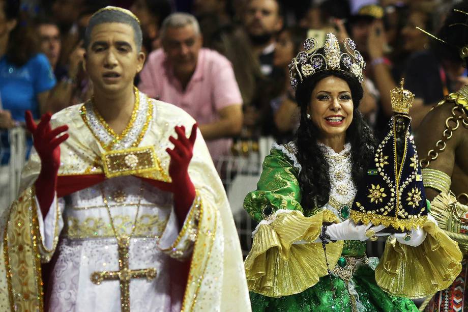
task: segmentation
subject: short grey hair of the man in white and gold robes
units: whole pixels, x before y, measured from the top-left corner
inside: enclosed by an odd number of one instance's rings
[[[104,23],[122,23],[131,26],[137,51],[141,51],[143,35],[141,33],[140,24],[135,17],[119,10],[103,10],[91,17],[90,23],[86,27],[86,33],[84,34],[84,48],[86,50],[89,48],[91,43],[91,32],[93,31],[93,28]]]

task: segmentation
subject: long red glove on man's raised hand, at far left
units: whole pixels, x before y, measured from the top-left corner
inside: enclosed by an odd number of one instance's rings
[[[68,133],[57,135],[68,130],[68,126],[50,128],[50,112],[42,115],[41,122],[36,125],[31,111],[26,110],[27,129],[33,134],[34,148],[41,158],[41,172],[35,182],[36,196],[43,218],[46,217],[57,187],[58,167],[60,167],[60,144],[68,138]]]

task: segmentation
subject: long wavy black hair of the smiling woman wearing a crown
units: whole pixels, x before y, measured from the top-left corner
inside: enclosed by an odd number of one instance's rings
[[[363,96],[363,89],[357,78],[341,70],[324,70],[305,78],[296,90],[296,100],[301,109],[300,126],[296,133],[298,160],[302,165],[299,174],[304,210],[318,207],[329,201],[330,177],[329,164],[318,146],[319,129],[309,120],[307,107],[310,104],[312,91],[318,81],[328,76],[335,76],[348,83],[353,98],[353,121],[346,130],[346,141],[351,144],[351,161],[353,181],[358,185],[364,170],[371,159],[376,146],[375,138],[358,109]]]

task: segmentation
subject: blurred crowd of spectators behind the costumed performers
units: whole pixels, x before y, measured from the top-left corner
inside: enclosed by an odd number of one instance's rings
[[[436,33],[454,3],[0,0],[2,164],[9,157],[6,130],[24,123],[26,109],[38,119],[91,98],[83,40],[91,15],[107,5],[128,8],[141,22],[148,57],[135,85],[189,111],[207,141],[222,140],[213,148],[216,158],[254,149],[245,143],[260,136],[294,139],[298,108],[288,64],[307,37],[323,42],[327,32],[340,41],[352,38],[364,56],[360,110],[377,136],[391,117],[390,90],[401,78],[416,97],[410,114],[417,129],[433,104],[468,83],[461,61],[454,61],[460,59],[416,29]]]

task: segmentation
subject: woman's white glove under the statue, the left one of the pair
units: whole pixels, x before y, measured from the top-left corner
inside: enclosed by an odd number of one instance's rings
[[[335,223],[327,226],[327,235],[331,240],[355,240],[365,241],[368,239],[366,236],[367,230],[373,230],[375,233],[385,229],[385,225],[373,226],[372,223],[356,225],[353,220],[347,219],[340,223]],[[388,234],[387,234],[388,235]]]

